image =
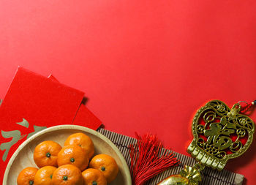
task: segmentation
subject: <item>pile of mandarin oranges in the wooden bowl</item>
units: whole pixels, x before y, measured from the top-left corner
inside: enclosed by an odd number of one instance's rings
[[[106,185],[116,178],[118,165],[112,156],[94,156],[94,143],[88,135],[69,135],[62,148],[46,140],[34,149],[37,167],[26,167],[18,185]]]

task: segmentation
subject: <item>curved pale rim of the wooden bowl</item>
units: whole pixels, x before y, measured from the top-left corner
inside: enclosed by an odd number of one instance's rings
[[[94,129],[89,129],[87,127],[79,126],[79,125],[72,125],[72,124],[64,124],[64,125],[58,125],[53,127],[48,127],[46,129],[43,129],[42,131],[37,132],[36,134],[29,137],[29,139],[25,140],[15,151],[15,153],[12,154],[10,161],[8,162],[7,168],[4,171],[4,178],[3,178],[3,185],[7,185],[7,177],[10,172],[10,167],[12,166],[12,163],[14,162],[16,156],[19,154],[19,152],[23,149],[24,146],[26,146],[28,143],[31,142],[31,140],[34,140],[35,138],[39,137],[40,135],[44,135],[47,132],[56,131],[59,129],[78,129],[84,132],[89,132],[92,135],[95,135],[97,137],[100,137],[102,140],[105,140],[108,145],[111,146],[111,148],[116,151],[116,154],[118,155],[119,159],[121,160],[122,167],[124,167],[124,174],[126,175],[126,179],[128,184],[132,184],[132,178],[129,172],[129,167],[127,165],[126,160],[124,159],[123,154],[121,154],[121,151],[115,146],[115,144],[108,139],[108,137],[105,137],[105,135],[102,135],[101,133],[95,131]]]

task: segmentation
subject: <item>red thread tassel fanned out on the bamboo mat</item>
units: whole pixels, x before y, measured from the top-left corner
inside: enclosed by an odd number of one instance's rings
[[[155,175],[179,164],[172,152],[165,151],[165,154],[159,156],[162,143],[156,135],[147,134],[140,137],[137,133],[135,134],[137,143],[129,146],[133,185],[143,185]]]

